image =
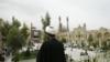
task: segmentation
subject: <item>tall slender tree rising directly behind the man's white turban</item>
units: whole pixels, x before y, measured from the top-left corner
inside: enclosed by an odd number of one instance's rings
[[[42,24],[43,24],[43,31],[45,32],[45,28],[46,28],[47,25],[50,25],[50,23],[51,23],[51,17],[50,17],[50,14],[46,13],[45,19],[42,18],[41,21],[42,21]],[[43,38],[44,38],[44,41],[47,40],[47,38],[46,38],[45,34],[43,35]]]

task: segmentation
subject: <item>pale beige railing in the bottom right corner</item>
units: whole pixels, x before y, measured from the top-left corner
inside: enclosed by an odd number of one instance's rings
[[[110,62],[110,52],[97,53],[96,56],[85,56],[79,61],[74,61],[72,59],[67,60],[67,62]]]

